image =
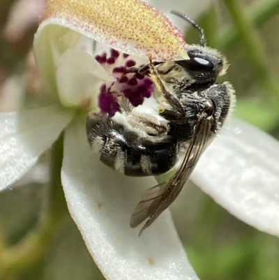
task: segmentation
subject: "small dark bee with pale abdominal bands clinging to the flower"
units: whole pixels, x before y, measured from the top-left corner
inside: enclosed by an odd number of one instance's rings
[[[204,31],[193,20],[174,10],[171,13],[190,22],[201,42],[187,46],[190,59],[157,62],[149,57],[146,66],[129,70],[149,75],[156,84],[161,94],[156,113],[139,112],[116,93],[121,113],[114,117],[90,113],[86,122],[88,141],[100,161],[125,175],[160,175],[181,160],[167,182],[142,195],[130,219],[132,228],[147,219],[142,230],[174,202],[234,105],[232,85],[216,83],[227,70],[225,58],[205,46]]]

